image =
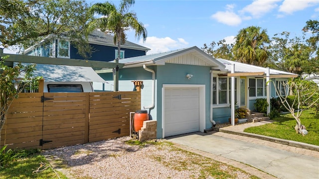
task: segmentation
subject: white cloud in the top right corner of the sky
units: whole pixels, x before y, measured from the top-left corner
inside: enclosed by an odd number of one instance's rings
[[[319,4],[319,0],[284,0],[279,7],[280,12],[292,14],[295,11]]]

